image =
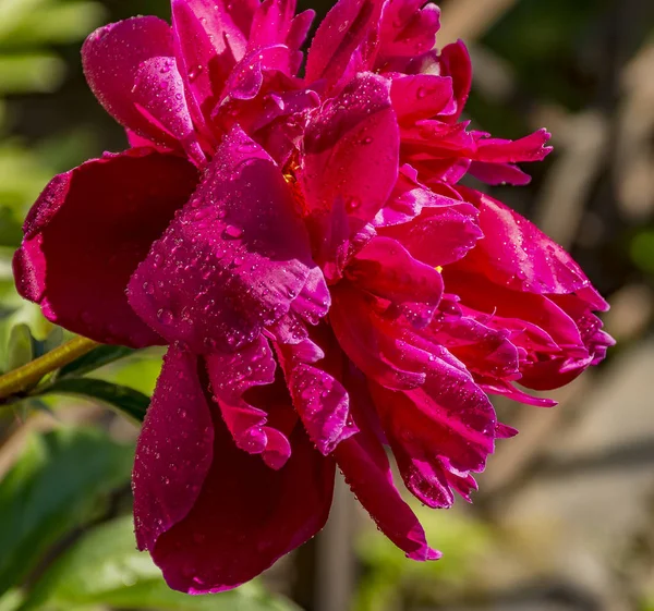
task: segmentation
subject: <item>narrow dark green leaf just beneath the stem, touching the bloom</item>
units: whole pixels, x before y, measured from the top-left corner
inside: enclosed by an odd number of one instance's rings
[[[60,379],[38,390],[36,395],[46,394],[73,394],[86,396],[116,407],[133,420],[142,423],[149,405],[149,396],[129,387],[121,387],[105,380],[93,378],[65,378]]]

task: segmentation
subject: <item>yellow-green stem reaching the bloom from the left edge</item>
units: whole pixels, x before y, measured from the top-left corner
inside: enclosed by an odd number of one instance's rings
[[[27,365],[0,376],[0,402],[29,389],[47,374],[72,363],[75,358],[85,355],[98,345],[100,344],[93,340],[78,337],[27,363]]]

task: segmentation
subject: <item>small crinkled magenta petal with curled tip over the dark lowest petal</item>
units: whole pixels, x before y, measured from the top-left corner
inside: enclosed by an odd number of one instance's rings
[[[245,393],[275,381],[275,359],[268,341],[259,337],[231,354],[210,354],[207,371],[216,402],[235,444],[250,454],[263,454],[272,468],[281,468],[291,455],[288,439],[267,425],[268,414],[250,404]]]

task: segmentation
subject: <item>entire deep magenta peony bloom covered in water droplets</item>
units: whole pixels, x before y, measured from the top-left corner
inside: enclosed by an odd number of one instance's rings
[[[25,223],[21,293],[106,343],[167,344],[134,466],[138,547],[171,587],[232,588],[313,537],[335,467],[408,557],[439,557],[393,485],[470,500],[487,393],[567,383],[607,304],[532,223],[460,185],[524,184],[549,134],[461,121],[461,42],[423,0],[172,0],[173,25],[94,33],[88,83],[132,148],[57,176]]]

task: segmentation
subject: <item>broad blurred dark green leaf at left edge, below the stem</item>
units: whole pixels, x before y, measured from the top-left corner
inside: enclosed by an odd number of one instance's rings
[[[133,449],[95,429],[34,435],[0,482],[0,595],[130,479]]]

